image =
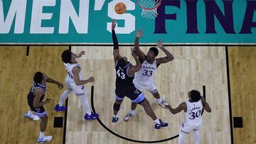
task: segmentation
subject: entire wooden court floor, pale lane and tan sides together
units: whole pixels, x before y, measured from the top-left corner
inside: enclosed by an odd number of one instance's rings
[[[174,61],[161,65],[154,77],[156,86],[166,101],[178,106],[187,100],[190,89],[203,92],[206,86],[206,99],[213,109],[212,113],[203,113],[201,143],[231,143],[230,109],[228,101],[228,77],[225,47],[166,47],[175,57]],[[26,95],[33,82],[33,73],[40,70],[60,82],[65,81],[65,69],[61,62],[63,46],[30,47],[26,56],[25,46],[0,46],[0,140],[1,143],[36,143],[39,121],[24,118],[28,110]],[[73,52],[85,50],[80,58],[84,78],[94,76],[95,82],[87,84],[89,100],[97,113],[100,113],[102,125],[124,138],[140,141],[164,140],[175,137],[183,121],[184,113],[172,115],[166,109],[154,104],[151,94],[145,92],[156,116],[169,123],[169,127],[154,130],[154,122],[141,106],[131,121],[124,122],[129,112],[130,101],[124,99],[119,111],[119,123],[112,125],[112,104],[114,103],[114,62],[112,47],[73,46]],[[144,52],[148,48],[142,47]],[[234,143],[255,142],[255,48],[228,48],[230,72],[230,96],[232,116],[241,116],[244,128],[233,128]],[[129,47],[121,47],[121,53],[132,60]],[[164,56],[163,52],[159,57]],[[248,58],[249,57],[249,58]],[[250,68],[248,68],[250,67]],[[93,99],[91,99],[93,89]],[[63,128],[53,128],[53,118],[64,116],[53,108],[63,90],[54,84],[48,84],[46,97],[52,99],[46,106],[48,128],[46,134],[53,135],[51,143],[63,143]],[[247,98],[247,99],[245,99]],[[253,101],[253,102],[252,102]],[[113,135],[99,121],[84,121],[84,111],[80,99],[71,94],[68,99],[67,125],[64,143],[133,143]],[[233,127],[233,126],[232,126]],[[246,141],[247,140],[247,141]],[[193,143],[193,133],[187,136],[187,143]],[[178,143],[178,138],[163,143]]]

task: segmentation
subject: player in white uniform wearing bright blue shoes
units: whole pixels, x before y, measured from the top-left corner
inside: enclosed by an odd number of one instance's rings
[[[66,107],[63,106],[63,102],[65,99],[67,99],[70,92],[73,91],[75,92],[75,95],[79,96],[82,101],[82,107],[86,112],[84,116],[85,120],[97,119],[99,115],[97,113],[92,113],[88,102],[87,91],[84,86],[84,84],[87,84],[88,82],[94,82],[94,78],[90,77],[87,80],[82,80],[81,68],[77,62],[78,58],[82,57],[82,55],[85,55],[84,51],[80,52],[79,55],[75,55],[75,53],[71,52],[70,50],[65,50],[61,55],[67,71],[67,76],[65,79],[67,89],[65,92],[63,92],[63,94],[61,94],[60,101],[55,106],[55,111],[66,110]]]

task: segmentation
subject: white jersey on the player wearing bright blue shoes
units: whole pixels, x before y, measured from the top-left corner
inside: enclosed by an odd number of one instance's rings
[[[74,81],[74,74],[72,72],[74,67],[80,67],[80,65],[78,63],[75,64],[70,64],[70,63],[64,63],[65,65],[65,69],[67,70],[67,76],[66,76],[66,82],[75,82]],[[79,79],[82,80],[82,70],[80,70],[79,72]]]

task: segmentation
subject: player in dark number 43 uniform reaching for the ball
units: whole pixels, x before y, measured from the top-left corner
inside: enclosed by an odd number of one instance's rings
[[[149,101],[146,100],[144,94],[134,87],[132,83],[134,79],[134,73],[139,71],[142,68],[142,64],[139,62],[137,55],[132,49],[132,56],[136,61],[137,65],[132,65],[130,62],[127,61],[127,57],[122,57],[119,54],[119,45],[117,41],[117,36],[114,32],[114,28],[116,26],[115,20],[112,21],[112,40],[114,43],[114,65],[116,70],[116,101],[114,102],[114,115],[112,116],[112,123],[117,123],[119,120],[117,113],[120,109],[120,105],[122,104],[122,100],[124,96],[129,97],[132,102],[136,104],[140,104],[143,106],[146,114],[148,114],[156,123],[154,128],[164,128],[168,126],[168,123],[164,123],[161,119],[156,118],[154,111],[151,109],[149,105]]]

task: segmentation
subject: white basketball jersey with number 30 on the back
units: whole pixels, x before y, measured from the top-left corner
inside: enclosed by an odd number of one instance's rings
[[[203,104],[201,100],[197,102],[186,101],[187,111],[185,113],[184,123],[193,126],[199,126],[202,123]]]

